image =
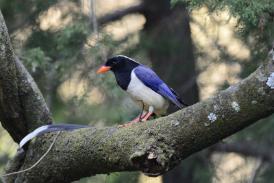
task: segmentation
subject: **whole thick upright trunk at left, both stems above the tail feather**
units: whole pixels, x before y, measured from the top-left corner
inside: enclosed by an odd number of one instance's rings
[[[34,79],[14,56],[1,11],[0,23],[0,121],[18,143],[53,119]]]

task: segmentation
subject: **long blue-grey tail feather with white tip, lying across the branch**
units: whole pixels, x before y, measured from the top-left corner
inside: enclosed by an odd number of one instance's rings
[[[55,132],[55,131],[72,131],[77,130],[79,128],[85,128],[89,126],[85,125],[73,125],[73,124],[53,124],[53,125],[45,125],[38,127],[34,132],[25,136],[22,141],[19,143],[19,147],[23,147],[27,141],[32,140],[32,138],[38,136],[39,134],[45,134],[47,132]]]

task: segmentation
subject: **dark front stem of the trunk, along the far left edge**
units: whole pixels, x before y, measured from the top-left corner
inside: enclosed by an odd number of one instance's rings
[[[12,45],[0,10],[0,121],[18,143],[27,134],[27,127],[23,120],[16,81]]]

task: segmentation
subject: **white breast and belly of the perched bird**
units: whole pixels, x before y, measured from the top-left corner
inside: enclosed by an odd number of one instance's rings
[[[149,110],[149,106],[153,106],[155,109],[154,112],[158,117],[166,115],[166,109],[169,108],[169,100],[145,86],[145,84],[138,79],[134,71],[132,71],[131,80],[126,91],[129,97],[140,108],[142,108],[142,102],[136,100],[142,100],[144,102],[145,110]]]

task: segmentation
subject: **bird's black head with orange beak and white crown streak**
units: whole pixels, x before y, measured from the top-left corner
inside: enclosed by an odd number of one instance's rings
[[[136,66],[140,65],[138,62],[127,58],[126,56],[113,56],[108,59],[107,62],[97,71],[97,73],[102,73],[104,71],[113,71],[116,73],[131,72]]]

